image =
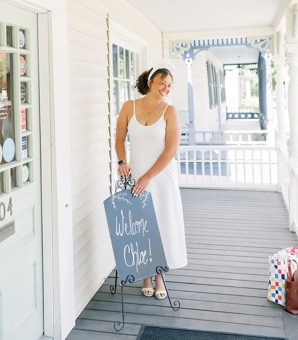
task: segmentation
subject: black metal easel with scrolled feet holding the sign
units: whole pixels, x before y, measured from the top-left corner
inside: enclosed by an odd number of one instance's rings
[[[122,177],[120,177],[120,180],[118,180],[117,185],[118,185],[118,187],[116,188],[115,192],[118,192],[118,191],[120,191],[120,190],[126,190],[126,189],[127,189],[127,186],[129,186],[129,187],[132,189],[132,188],[134,187],[134,185],[135,185],[135,180],[131,178],[131,174],[130,174],[129,177],[128,177],[127,179],[123,179]],[[161,274],[167,273],[168,271],[169,271],[169,268],[168,268],[168,267],[165,267],[165,268],[164,268],[164,267],[162,267],[162,266],[158,266],[158,267],[156,268],[156,275],[161,275]],[[172,308],[173,310],[176,311],[176,310],[180,309],[180,301],[176,300],[176,301],[174,301],[174,303],[172,304],[172,301],[171,301],[170,296],[169,296],[169,292],[168,292],[168,288],[167,288],[165,279],[164,279],[163,275],[161,275],[161,276],[162,276],[162,279],[163,279],[163,282],[164,282],[164,285],[165,285],[165,288],[166,288],[167,297],[168,297],[168,299],[169,299],[170,306],[171,306],[171,308]],[[115,293],[116,293],[116,289],[117,289],[117,277],[118,277],[118,271],[117,271],[117,268],[116,268],[115,285],[114,285],[114,286],[113,286],[113,285],[110,286],[110,291],[111,291],[112,294],[115,294]],[[124,287],[124,286],[127,286],[127,285],[129,285],[129,284],[131,284],[131,283],[133,283],[133,282],[134,282],[134,279],[135,279],[135,278],[134,278],[133,275],[128,275],[125,281],[122,280],[122,281],[120,282],[120,286],[121,286],[121,298],[122,298],[122,319],[123,319],[123,321],[122,321],[122,322],[120,322],[120,321],[115,321],[115,322],[114,322],[114,329],[115,329],[117,332],[121,331],[121,330],[124,328],[124,325],[125,325],[125,321],[124,321],[124,297],[123,297],[123,287]],[[175,307],[174,307],[173,305],[174,305]],[[121,323],[122,323],[122,326],[121,326]],[[121,328],[120,328],[120,329],[117,329],[116,325],[117,325],[117,326],[121,326]]]

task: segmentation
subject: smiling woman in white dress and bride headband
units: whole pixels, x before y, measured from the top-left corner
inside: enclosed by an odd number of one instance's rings
[[[117,122],[115,141],[120,164],[118,175],[128,177],[133,173],[137,181],[132,190],[134,196],[144,190],[151,192],[170,269],[187,265],[178,166],[174,159],[181,139],[181,126],[176,108],[164,102],[173,84],[173,69],[171,63],[163,62],[139,76],[135,88],[145,97],[124,103]],[[130,165],[125,158],[127,132],[130,138]],[[161,275],[155,276],[155,288],[157,299],[167,296]],[[144,280],[142,292],[145,296],[153,295],[151,278]]]

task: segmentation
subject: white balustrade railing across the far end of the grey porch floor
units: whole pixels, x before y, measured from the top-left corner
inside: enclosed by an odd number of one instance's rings
[[[271,146],[180,146],[180,187],[277,190],[277,151]]]

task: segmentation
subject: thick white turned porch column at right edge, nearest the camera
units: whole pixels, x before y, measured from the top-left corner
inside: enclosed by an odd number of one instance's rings
[[[290,121],[290,146],[289,146],[289,227],[294,231],[294,221],[296,218],[296,180],[292,172],[298,167],[298,32],[296,11],[297,2],[292,3],[286,12],[286,49],[289,62],[288,75],[290,78],[288,86],[288,114]]]

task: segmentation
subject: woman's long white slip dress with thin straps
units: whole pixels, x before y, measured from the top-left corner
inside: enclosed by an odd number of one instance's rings
[[[128,124],[132,178],[137,182],[156,162],[166,148],[166,122],[164,114],[153,125],[140,124],[135,116]],[[178,183],[178,164],[173,158],[159,174],[152,178],[145,189],[152,195],[157,223],[170,269],[187,265],[185,230],[181,194]]]

